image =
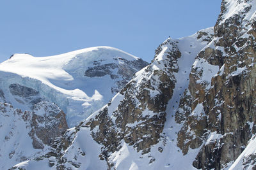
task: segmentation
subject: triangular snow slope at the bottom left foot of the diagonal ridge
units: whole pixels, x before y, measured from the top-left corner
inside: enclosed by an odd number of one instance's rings
[[[74,134],[74,135],[73,135]],[[99,159],[100,148],[101,146],[96,143],[92,138],[88,138],[90,136],[90,129],[86,127],[82,127],[78,132],[77,129],[71,128],[68,129],[67,135],[75,138],[72,146],[64,150],[61,153],[61,159],[63,162],[63,166],[65,169],[108,169],[108,166],[104,160]],[[48,152],[51,152],[49,150]],[[38,157],[40,161],[36,159],[28,160],[21,162],[15,167],[23,168],[23,169],[58,169],[58,162],[56,157],[51,156],[48,158]],[[52,166],[49,166],[51,164]]]

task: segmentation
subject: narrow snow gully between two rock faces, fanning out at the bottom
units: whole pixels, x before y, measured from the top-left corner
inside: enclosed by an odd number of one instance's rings
[[[213,34],[213,27],[201,31],[207,32],[210,35]],[[192,150],[187,155],[183,155],[180,152],[180,148],[177,147],[177,132],[180,131],[181,125],[175,122],[174,115],[179,108],[180,95],[188,88],[189,73],[195,62],[195,57],[208,43],[207,41],[203,41],[204,36],[199,39],[197,37],[198,32],[192,36],[172,40],[177,43],[181,56],[177,62],[179,71],[174,73],[177,82],[175,83],[173,96],[166,108],[166,123],[163,129],[164,141],[154,145],[151,148],[151,152],[145,155],[141,155],[141,152],[137,153],[132,146],[124,145],[120,152],[127,150],[125,156],[118,156],[119,152],[114,153],[112,156],[115,157],[113,161],[116,162],[116,169],[123,169],[124,167],[131,167],[131,169],[145,169],[145,167],[147,169],[195,169],[192,166],[192,162],[199,148]],[[161,55],[163,53],[160,53],[157,58],[163,58]],[[163,148],[163,152],[159,152],[159,147]],[[152,159],[154,163],[150,164],[150,160]]]

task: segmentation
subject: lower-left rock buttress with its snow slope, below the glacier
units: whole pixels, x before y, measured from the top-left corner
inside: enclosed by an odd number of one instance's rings
[[[46,101],[25,112],[0,103],[0,118],[1,169],[44,153],[68,128],[63,111]]]

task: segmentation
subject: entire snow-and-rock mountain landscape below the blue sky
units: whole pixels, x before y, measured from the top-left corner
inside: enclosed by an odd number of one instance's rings
[[[256,0],[223,0],[214,27],[166,39],[148,66],[110,47],[13,55],[1,168],[256,169],[255,58]]]

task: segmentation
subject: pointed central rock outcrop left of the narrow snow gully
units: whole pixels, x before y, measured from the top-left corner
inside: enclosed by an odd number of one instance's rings
[[[179,69],[177,59],[180,57],[179,49],[171,39],[159,49],[162,55],[136,73],[108,106],[86,123],[93,139],[104,146],[100,155],[103,159],[108,160],[111,153],[122,148],[122,140],[143,153],[150,152],[150,147],[159,142],[166,120],[166,104],[175,86],[173,72]],[[156,69],[163,65],[166,67]]]

